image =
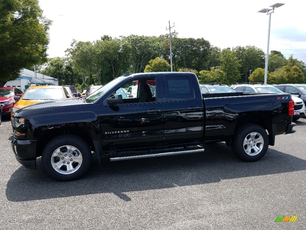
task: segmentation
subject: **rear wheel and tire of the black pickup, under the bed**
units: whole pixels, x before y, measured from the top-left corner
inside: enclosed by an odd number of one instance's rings
[[[233,153],[239,159],[247,162],[257,161],[268,150],[269,136],[259,125],[242,125],[235,131],[231,146]]]

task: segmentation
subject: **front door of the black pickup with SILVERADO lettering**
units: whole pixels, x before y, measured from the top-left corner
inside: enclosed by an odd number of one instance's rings
[[[149,92],[150,87],[147,82],[157,84],[156,96],[152,95],[153,92]],[[110,106],[105,103],[106,100],[103,105],[100,102],[99,123],[104,149],[131,149],[162,144],[163,117],[159,82],[160,80],[156,81],[156,77],[144,79],[140,76],[129,82],[123,82],[114,90],[113,94],[122,94],[123,104]],[[147,86],[144,87],[142,84]],[[123,89],[129,87],[137,89],[133,96],[123,92]]]

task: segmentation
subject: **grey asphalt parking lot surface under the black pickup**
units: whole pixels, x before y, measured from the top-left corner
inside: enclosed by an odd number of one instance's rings
[[[258,162],[216,143],[203,153],[94,160],[84,178],[57,182],[40,159],[36,171],[16,161],[3,117],[0,229],[306,229],[306,119],[296,124]]]

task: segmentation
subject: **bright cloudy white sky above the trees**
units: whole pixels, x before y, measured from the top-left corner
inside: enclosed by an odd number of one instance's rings
[[[306,1],[279,0],[271,14],[270,48],[306,63]],[[181,38],[204,38],[219,48],[254,45],[267,52],[269,16],[257,11],[274,0],[72,1],[40,0],[43,15],[53,21],[49,57],[65,56],[73,39],[99,40],[103,35],[159,36],[170,25]]]

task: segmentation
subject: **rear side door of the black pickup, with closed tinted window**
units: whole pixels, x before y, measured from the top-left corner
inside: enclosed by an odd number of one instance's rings
[[[199,142],[203,136],[203,102],[196,76],[162,78],[165,144]],[[192,87],[192,84],[197,84]]]

